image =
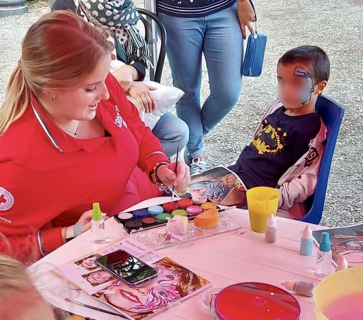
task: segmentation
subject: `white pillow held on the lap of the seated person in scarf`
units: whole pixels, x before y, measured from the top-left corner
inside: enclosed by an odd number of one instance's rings
[[[125,65],[123,61],[112,60],[110,65],[110,71],[112,72],[115,69],[118,69],[120,66]],[[160,85],[154,81],[142,81],[142,84],[150,85],[156,88],[156,90],[150,91],[151,96],[155,99],[156,108],[152,112],[146,113],[142,110],[142,106],[138,101],[136,101],[133,97],[128,96],[130,102],[132,102],[136,108],[138,108],[140,113],[141,120],[144,121],[147,127],[150,127],[152,130],[159,121],[161,116],[168,112],[169,109],[181,98],[184,96],[184,91],[175,87],[169,87]]]

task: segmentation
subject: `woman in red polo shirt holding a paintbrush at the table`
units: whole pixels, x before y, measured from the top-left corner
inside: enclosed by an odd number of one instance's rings
[[[18,259],[39,259],[89,229],[93,202],[113,215],[189,184],[186,166],[173,172],[109,74],[111,49],[65,11],[24,38],[0,109],[0,232]]]

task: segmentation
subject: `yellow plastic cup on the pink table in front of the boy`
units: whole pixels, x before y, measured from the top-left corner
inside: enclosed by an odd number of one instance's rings
[[[256,187],[247,190],[247,205],[251,229],[263,233],[271,213],[276,216],[280,192],[269,187]]]

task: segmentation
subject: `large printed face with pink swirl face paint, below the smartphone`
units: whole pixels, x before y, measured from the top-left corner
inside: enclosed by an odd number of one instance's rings
[[[135,289],[130,289],[123,282],[117,282],[108,288],[105,297],[113,306],[124,311],[134,313],[145,313],[157,308],[167,306],[169,301],[180,297],[175,284],[179,280],[177,274],[155,268],[159,272],[157,280],[140,285]]]

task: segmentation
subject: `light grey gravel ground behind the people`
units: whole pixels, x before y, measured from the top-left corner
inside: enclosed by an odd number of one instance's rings
[[[137,0],[143,6],[143,0]],[[314,44],[331,59],[331,78],[326,94],[343,104],[345,117],[336,145],[321,224],[345,225],[363,219],[361,208],[363,142],[363,3],[360,0],[255,0],[259,31],[268,35],[261,77],[245,78],[240,100],[233,111],[206,137],[209,166],[229,164],[250,143],[253,131],[276,93],[276,63],[291,47]],[[29,2],[23,16],[0,19],[0,101],[20,54],[20,42],[28,27],[49,11],[47,2]],[[360,27],[359,27],[360,26]],[[207,70],[203,68],[202,99],[209,94]],[[168,64],[164,84],[171,84]],[[258,94],[257,94],[258,93]]]

